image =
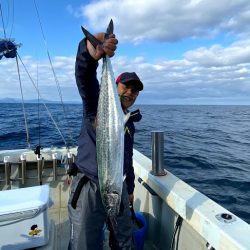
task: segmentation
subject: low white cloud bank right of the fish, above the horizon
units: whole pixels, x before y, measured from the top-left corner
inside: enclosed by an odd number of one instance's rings
[[[242,55],[248,43],[189,51],[182,60],[149,63],[141,58],[137,63],[114,58],[114,71],[138,73],[145,85],[140,99],[144,103],[250,104],[250,62]]]

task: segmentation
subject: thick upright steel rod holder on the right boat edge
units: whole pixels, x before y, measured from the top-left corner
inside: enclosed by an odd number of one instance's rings
[[[156,176],[166,175],[164,170],[164,132],[152,131],[152,171]]]

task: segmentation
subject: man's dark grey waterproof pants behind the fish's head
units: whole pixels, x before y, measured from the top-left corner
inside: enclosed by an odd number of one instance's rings
[[[71,201],[79,181],[84,174],[78,173],[72,181],[68,203],[68,212],[71,225],[70,250],[102,250],[104,238],[104,224],[106,214],[101,200],[99,186],[92,180],[87,181],[81,189],[76,208]],[[116,218],[114,228],[113,248],[115,250],[134,249],[132,239],[132,221],[130,219],[129,198],[124,181],[122,192],[122,209]],[[112,249],[113,249],[112,248]]]

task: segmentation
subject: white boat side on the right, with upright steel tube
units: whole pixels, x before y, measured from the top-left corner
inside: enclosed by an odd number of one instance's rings
[[[157,249],[170,249],[173,229],[181,219],[178,249],[249,249],[249,224],[166,170],[163,155],[153,152],[163,152],[162,137],[162,132],[152,133],[152,160],[137,150],[133,154],[140,183],[135,185],[135,208],[147,218],[149,240]]]

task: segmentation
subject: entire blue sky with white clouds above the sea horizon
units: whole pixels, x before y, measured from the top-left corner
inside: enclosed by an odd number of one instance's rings
[[[59,100],[47,49],[63,100],[80,101],[74,79],[80,26],[104,31],[112,18],[119,40],[114,74],[138,73],[145,86],[138,103],[250,104],[249,0],[0,1],[7,37],[12,30],[22,43],[18,53],[44,99]],[[21,66],[24,98],[35,99]],[[0,89],[0,98],[20,98],[14,59],[0,60]]]

